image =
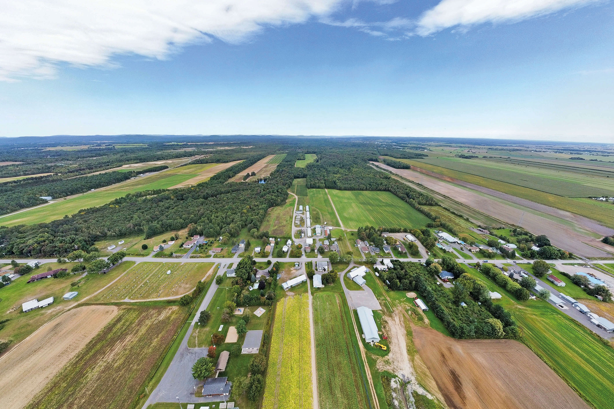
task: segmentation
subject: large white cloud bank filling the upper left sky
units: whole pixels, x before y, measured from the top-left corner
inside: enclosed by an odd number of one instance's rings
[[[186,44],[239,42],[303,23],[343,0],[0,0],[0,80],[51,78],[59,63],[110,66],[117,54],[164,59]]]

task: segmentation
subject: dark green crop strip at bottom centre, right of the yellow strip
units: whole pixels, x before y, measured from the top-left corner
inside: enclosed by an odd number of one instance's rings
[[[368,407],[356,353],[349,338],[353,329],[344,319],[339,296],[333,292],[315,294],[313,310],[320,407]]]

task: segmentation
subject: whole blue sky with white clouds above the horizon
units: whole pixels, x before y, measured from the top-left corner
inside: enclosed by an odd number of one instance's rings
[[[0,17],[0,136],[614,143],[610,1],[211,2],[225,12],[184,0],[189,12],[141,4],[122,15],[65,0],[19,26],[23,12],[10,10]]]

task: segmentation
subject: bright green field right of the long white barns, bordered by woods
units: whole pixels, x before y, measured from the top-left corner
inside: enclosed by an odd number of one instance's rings
[[[419,229],[430,220],[390,192],[328,189],[346,229],[399,226]]]

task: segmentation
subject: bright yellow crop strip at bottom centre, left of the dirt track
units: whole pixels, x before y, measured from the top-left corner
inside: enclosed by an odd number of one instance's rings
[[[278,302],[266,371],[263,409],[313,407],[307,294]]]

